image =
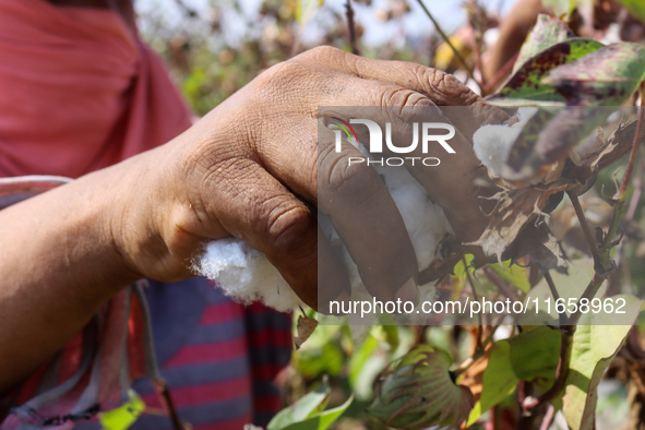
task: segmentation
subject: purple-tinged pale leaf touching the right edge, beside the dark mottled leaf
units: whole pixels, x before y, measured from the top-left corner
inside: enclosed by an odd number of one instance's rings
[[[621,106],[645,79],[645,48],[613,44],[560,65],[542,80],[570,105]]]

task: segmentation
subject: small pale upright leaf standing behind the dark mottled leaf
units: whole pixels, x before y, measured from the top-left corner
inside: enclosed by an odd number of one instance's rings
[[[570,0],[564,1],[569,3]],[[562,21],[546,14],[539,14],[535,26],[528,34],[524,45],[522,45],[522,49],[519,49],[517,60],[513,64],[513,73],[519,70],[526,61],[548,47],[572,37],[574,37],[574,34]]]

